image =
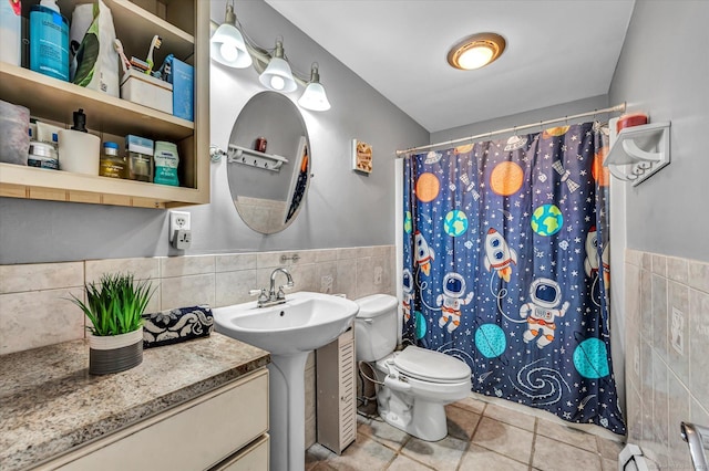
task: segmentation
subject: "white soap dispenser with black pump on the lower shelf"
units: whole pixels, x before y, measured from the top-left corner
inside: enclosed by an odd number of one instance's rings
[[[73,114],[71,129],[59,132],[59,169],[74,174],[99,175],[101,139],[86,130],[86,115]]]

